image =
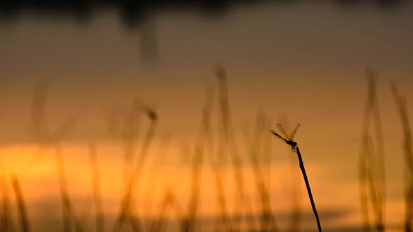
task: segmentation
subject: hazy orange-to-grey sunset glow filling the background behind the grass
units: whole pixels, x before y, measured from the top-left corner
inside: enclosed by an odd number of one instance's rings
[[[46,78],[50,83],[50,131],[70,116],[79,116],[74,131],[63,141],[69,191],[78,211],[92,194],[87,147],[91,140],[98,147],[108,218],[118,211],[123,147],[107,131],[105,117],[113,105],[130,106],[136,96],[154,105],[159,115],[142,173],[142,188],[158,175],[158,190],[151,194],[140,189],[138,198],[143,205],[156,207],[166,189],[172,188],[186,205],[191,166],[182,158],[182,147],[193,146],[205,91],[218,84],[213,67],[221,63],[228,74],[233,127],[243,160],[249,162],[242,128],[248,125],[253,131],[259,110],[273,123],[266,128],[264,139],[271,136],[269,130],[275,129],[277,122],[287,123],[287,131],[301,123],[295,140],[304,156],[322,226],[330,231],[357,230],[365,67],[370,65],[379,74],[377,94],[388,181],[386,221],[390,231],[398,229],[404,212],[403,134],[389,84],[396,81],[412,108],[412,3],[387,11],[363,4],[340,8],[328,2],[264,3],[237,6],[220,19],[205,19],[195,12],[158,12],[150,20],[158,40],[158,62],[153,65],[142,61],[139,31],[125,32],[111,10],[97,12],[90,25],[78,25],[69,17],[42,18],[30,13],[14,23],[0,22],[0,154],[4,170],[16,171],[37,149],[28,136],[30,104],[36,81]],[[215,132],[218,112],[215,101]],[[142,118],[141,137],[148,125],[149,120]],[[159,158],[168,135],[168,152]],[[299,189],[303,229],[315,231],[297,158],[288,145],[273,137],[270,142],[272,161],[262,167],[267,184],[271,182],[279,226],[288,227],[291,185]],[[32,220],[34,231],[45,231],[45,224],[61,228],[54,160],[53,154],[46,152],[32,169],[17,171],[29,213],[39,218]],[[290,167],[294,167],[293,174]],[[258,211],[251,166],[244,169],[247,192]],[[200,217],[207,230],[212,229],[209,218],[216,212],[215,183],[208,163],[203,170]],[[233,211],[236,194],[229,178],[226,193]],[[142,215],[153,213],[150,207],[142,207]]]

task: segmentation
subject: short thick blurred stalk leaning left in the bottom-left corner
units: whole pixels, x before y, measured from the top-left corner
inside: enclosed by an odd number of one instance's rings
[[[19,178],[17,176],[12,176],[12,187],[14,191],[14,196],[17,201],[17,208],[19,210],[19,221],[22,232],[30,231],[30,222],[28,218],[28,211],[25,206],[23,192],[21,191]]]

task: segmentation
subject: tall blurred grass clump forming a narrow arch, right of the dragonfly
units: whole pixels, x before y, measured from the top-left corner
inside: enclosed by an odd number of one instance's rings
[[[377,231],[385,230],[385,165],[383,148],[383,129],[379,104],[376,95],[377,75],[370,67],[366,68],[368,97],[363,116],[361,152],[359,156],[360,203],[363,230],[369,232],[368,196],[374,211],[374,227]],[[374,120],[374,140],[370,135],[370,118]],[[369,194],[370,193],[370,194]]]

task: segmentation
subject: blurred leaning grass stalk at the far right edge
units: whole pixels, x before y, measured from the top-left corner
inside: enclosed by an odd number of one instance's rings
[[[413,153],[412,153],[412,131],[407,113],[407,100],[404,95],[399,94],[396,83],[391,83],[392,94],[396,107],[399,111],[401,126],[403,129],[403,151],[405,158],[405,232],[412,231],[413,220]]]

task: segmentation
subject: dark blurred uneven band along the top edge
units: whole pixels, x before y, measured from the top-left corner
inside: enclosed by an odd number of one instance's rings
[[[381,8],[402,6],[407,0],[326,0],[338,6],[361,6],[374,3]],[[13,19],[22,10],[33,10],[38,14],[72,14],[79,21],[86,23],[92,20],[94,10],[98,8],[114,8],[120,13],[127,25],[138,26],[151,12],[156,10],[197,10],[211,17],[222,16],[237,4],[251,6],[264,3],[301,3],[298,0],[2,0],[0,1],[0,19]]]

